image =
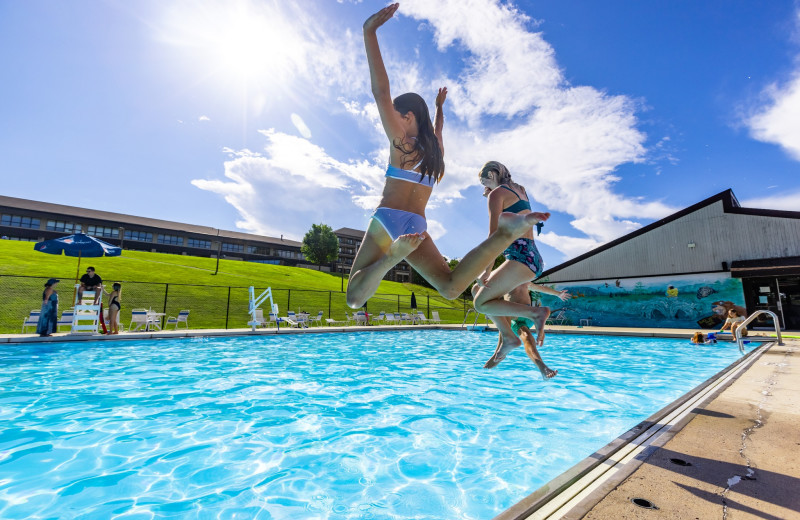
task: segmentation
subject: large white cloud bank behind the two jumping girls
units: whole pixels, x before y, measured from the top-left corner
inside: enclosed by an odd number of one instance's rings
[[[373,143],[370,162],[334,159],[310,142],[310,132],[302,129],[305,124],[298,125],[293,118],[306,139],[263,131],[263,151],[236,151],[225,163],[227,181],[193,184],[219,193],[236,207],[242,229],[299,237],[309,222],[332,221],[344,212],[363,215],[374,207],[388,152],[369,97],[360,34],[330,35],[316,18],[299,12],[290,15],[276,11],[269,23],[305,31],[293,39],[293,45],[301,47],[292,52],[306,61],[282,81],[305,85],[302,90],[320,96],[309,103],[326,106],[325,96],[328,105],[338,102],[364,131],[348,139]],[[431,222],[432,234],[447,233],[441,222],[452,222],[447,213],[450,204],[460,203],[464,190],[476,185],[477,170],[489,159],[505,163],[540,207],[574,217],[571,225],[582,236],[548,232],[540,237],[567,257],[640,227],[637,219],[657,219],[674,210],[614,191],[620,180],[615,169],[647,155],[646,136],[637,129],[637,102],[569,84],[554,49],[541,33],[527,28],[529,20],[523,14],[494,0],[471,0],[467,5],[463,0],[407,0],[400,15],[423,22],[438,51],[457,49],[467,56],[454,79],[431,76],[421,63],[408,61],[413,53],[398,55],[397,50],[384,48],[395,93],[415,90],[431,98],[441,85],[450,91],[446,108],[456,118],[445,125],[447,174],[429,205],[429,217],[438,221]],[[487,27],[502,27],[502,38]],[[474,214],[485,221],[483,207]]]

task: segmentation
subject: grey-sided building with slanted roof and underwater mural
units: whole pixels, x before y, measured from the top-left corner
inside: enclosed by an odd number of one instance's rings
[[[800,329],[800,211],[743,208],[731,190],[542,273],[580,325],[718,327],[730,308]],[[762,315],[754,327],[772,327]]]

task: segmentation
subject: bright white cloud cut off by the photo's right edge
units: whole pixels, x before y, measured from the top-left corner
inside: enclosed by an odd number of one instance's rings
[[[800,9],[795,14],[800,28]],[[754,110],[746,124],[753,138],[777,144],[795,160],[800,161],[800,56],[790,79],[772,83],[761,93],[765,100]]]

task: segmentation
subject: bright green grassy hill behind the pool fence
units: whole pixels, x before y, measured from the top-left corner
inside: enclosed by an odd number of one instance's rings
[[[271,287],[281,315],[286,310],[303,310],[325,317],[343,319],[351,311],[345,304],[346,277],[311,269],[220,260],[193,256],[123,251],[113,258],[84,258],[80,272],[94,266],[104,282],[121,282],[122,323],[130,321],[133,308],[152,308],[168,315],[181,309],[191,310],[192,328],[246,327],[248,290],[256,294]],[[19,332],[22,319],[31,309],[41,306],[45,280],[59,278],[60,309],[71,307],[72,284],[78,259],[55,256],[33,250],[31,242],[0,240],[0,332]],[[467,304],[448,301],[419,285],[383,281],[378,293],[367,303],[370,314],[380,311],[408,312],[411,292],[423,312],[437,310],[444,321],[460,323]],[[264,306],[266,308],[266,306]],[[266,314],[266,313],[265,313]]]

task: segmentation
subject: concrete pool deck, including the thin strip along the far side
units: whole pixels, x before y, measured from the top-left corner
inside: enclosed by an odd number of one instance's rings
[[[280,334],[425,328],[461,329],[461,326],[282,328]],[[574,326],[552,326],[547,331],[554,334],[674,338],[689,338],[694,332],[690,329]],[[116,336],[58,334],[49,338],[10,334],[0,336],[0,348],[3,343],[276,333],[273,328],[256,332],[248,329],[182,329]],[[774,339],[767,334],[751,332],[750,337],[767,341]],[[571,487],[571,498],[564,498],[563,506],[548,509],[548,503],[544,503],[536,511],[524,512],[528,500],[525,499],[497,519],[800,519],[800,494],[797,493],[800,489],[800,361],[796,359],[800,341],[786,338],[784,343],[783,346],[772,343],[762,347],[721,377],[717,386],[709,385],[706,393],[698,394],[695,401],[688,401],[687,410],[674,424],[666,425],[652,442],[638,446],[639,450],[632,452],[629,460],[616,463],[613,477],[590,483],[580,490]],[[734,345],[731,347],[735,348]],[[671,459],[688,465],[676,464]],[[601,464],[604,465],[608,465],[606,461]],[[532,497],[533,501],[537,498]],[[634,505],[634,499],[649,501],[657,509]]]

